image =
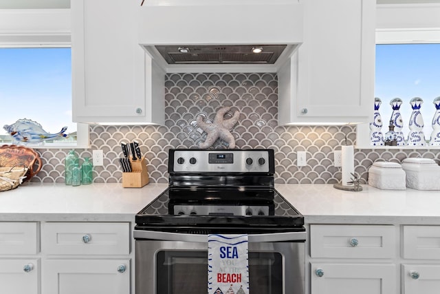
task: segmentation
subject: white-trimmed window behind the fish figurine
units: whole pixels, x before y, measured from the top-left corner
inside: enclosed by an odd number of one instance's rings
[[[32,148],[89,147],[88,125],[72,123],[70,32],[69,9],[0,9],[0,144],[3,125],[28,118],[70,134]]]

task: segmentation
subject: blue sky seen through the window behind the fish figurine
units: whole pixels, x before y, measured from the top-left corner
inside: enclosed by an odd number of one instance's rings
[[[0,48],[0,134],[19,118],[40,123],[56,133],[72,123],[72,58],[70,48]]]

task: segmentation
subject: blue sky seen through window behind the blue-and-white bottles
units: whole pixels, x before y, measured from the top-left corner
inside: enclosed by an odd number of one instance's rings
[[[426,140],[432,132],[431,122],[435,107],[432,101],[440,96],[440,44],[381,44],[376,45],[375,97],[382,100],[380,114],[384,128],[388,131],[393,98],[403,101],[400,112],[404,119],[405,136],[409,132],[412,112],[410,100],[423,99],[421,114]],[[371,107],[373,112],[373,103]]]

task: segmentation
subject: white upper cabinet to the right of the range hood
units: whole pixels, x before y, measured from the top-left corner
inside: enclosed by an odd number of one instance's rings
[[[375,1],[304,1],[304,41],[278,70],[278,123],[362,123],[373,113]]]

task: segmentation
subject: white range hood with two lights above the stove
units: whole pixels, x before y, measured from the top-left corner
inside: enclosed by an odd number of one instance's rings
[[[166,72],[276,72],[303,42],[303,4],[150,0],[138,24],[139,44]]]

